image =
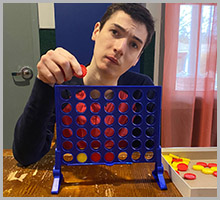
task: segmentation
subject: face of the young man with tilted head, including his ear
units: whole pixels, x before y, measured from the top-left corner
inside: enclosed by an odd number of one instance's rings
[[[92,39],[95,41],[93,59],[98,69],[118,78],[136,65],[147,34],[144,24],[123,11],[115,12],[101,31],[97,23]]]

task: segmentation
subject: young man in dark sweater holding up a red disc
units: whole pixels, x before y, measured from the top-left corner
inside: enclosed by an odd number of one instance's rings
[[[143,74],[128,71],[139,60],[154,33],[154,21],[140,4],[112,4],[97,22],[91,63],[83,79],[74,55],[57,48],[43,55],[23,114],[15,127],[13,153],[22,165],[40,160],[49,150],[54,134],[54,84],[153,85]]]

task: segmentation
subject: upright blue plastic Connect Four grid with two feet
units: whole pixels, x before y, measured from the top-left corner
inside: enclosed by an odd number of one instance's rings
[[[57,147],[51,193],[59,192],[62,165],[154,162],[160,189],[160,86],[55,86]]]

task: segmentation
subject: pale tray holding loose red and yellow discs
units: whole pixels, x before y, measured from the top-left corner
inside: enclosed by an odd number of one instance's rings
[[[179,157],[189,158],[188,170],[180,175],[170,166],[163,155],[172,153]],[[192,169],[197,162],[217,163],[216,147],[162,148],[162,163],[171,180],[184,197],[217,197],[217,177]],[[194,173],[195,180],[183,178],[185,173]]]

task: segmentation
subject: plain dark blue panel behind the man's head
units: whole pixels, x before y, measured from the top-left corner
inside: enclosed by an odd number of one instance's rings
[[[100,21],[109,3],[55,3],[56,46],[71,52],[81,64],[92,58],[91,40],[95,23]],[[140,63],[131,68],[140,72]]]

